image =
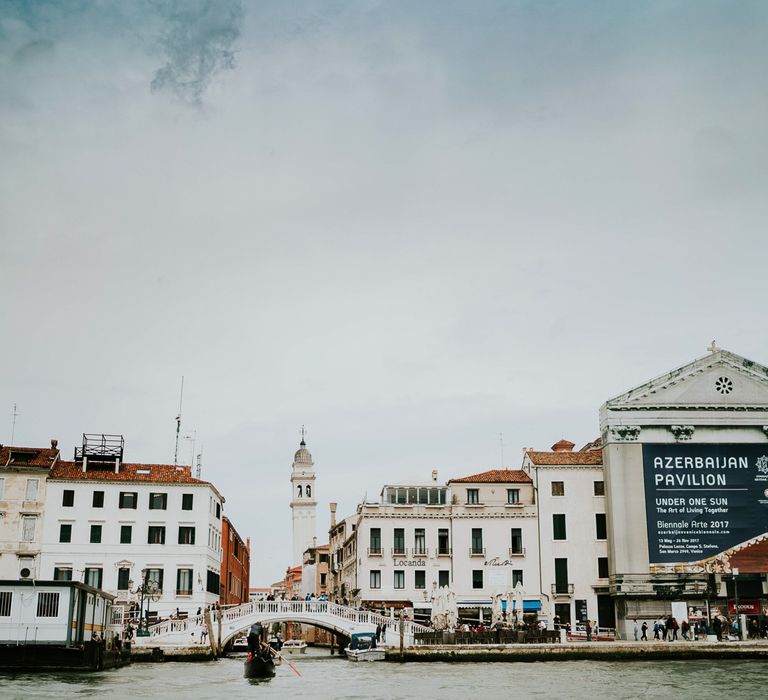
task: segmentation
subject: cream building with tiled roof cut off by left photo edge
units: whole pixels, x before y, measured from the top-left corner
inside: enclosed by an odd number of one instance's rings
[[[40,578],[40,543],[48,473],[59,459],[51,447],[0,445],[0,579]]]

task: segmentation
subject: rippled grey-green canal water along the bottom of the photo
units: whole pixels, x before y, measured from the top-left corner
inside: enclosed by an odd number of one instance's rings
[[[487,700],[489,698],[766,698],[760,661],[552,661],[351,663],[307,656],[266,681],[242,677],[242,659],[134,664],[102,673],[0,675],[0,698],[288,698]]]

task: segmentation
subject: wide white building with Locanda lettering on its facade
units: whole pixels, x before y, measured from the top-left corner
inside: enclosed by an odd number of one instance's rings
[[[344,525],[344,532],[339,526]],[[356,518],[331,527],[332,566],[346,596],[371,608],[414,608],[428,617],[432,585],[450,586],[469,616],[517,581],[526,610],[540,609],[533,485],[520,470],[491,470],[447,485],[388,485]],[[355,583],[345,569],[352,561]],[[334,591],[336,593],[336,591]]]

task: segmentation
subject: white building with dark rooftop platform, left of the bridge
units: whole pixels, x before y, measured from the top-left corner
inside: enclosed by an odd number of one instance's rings
[[[221,494],[190,467],[122,462],[118,438],[114,450],[84,442],[77,461],[51,470],[39,575],[101,588],[116,604],[138,603],[136,589],[153,582],[151,610],[163,616],[217,602]]]

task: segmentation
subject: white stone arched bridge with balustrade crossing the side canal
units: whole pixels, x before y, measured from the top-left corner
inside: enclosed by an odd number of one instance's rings
[[[245,633],[248,628],[260,622],[265,628],[275,622],[298,622],[304,625],[314,625],[322,629],[336,632],[349,637],[354,632],[375,632],[376,625],[386,626],[388,644],[400,643],[400,620],[379,615],[368,610],[356,610],[344,605],[336,605],[330,601],[294,601],[294,600],[263,600],[245,603],[237,607],[220,611],[211,611],[213,629],[209,632],[218,634],[218,615],[221,615],[221,646],[231,639]],[[138,646],[187,646],[193,641],[200,640],[200,631],[204,622],[202,615],[186,620],[166,620],[149,628],[148,637],[138,637]],[[405,623],[405,639],[407,646],[413,644],[415,632],[428,632],[429,628],[412,621]]]

